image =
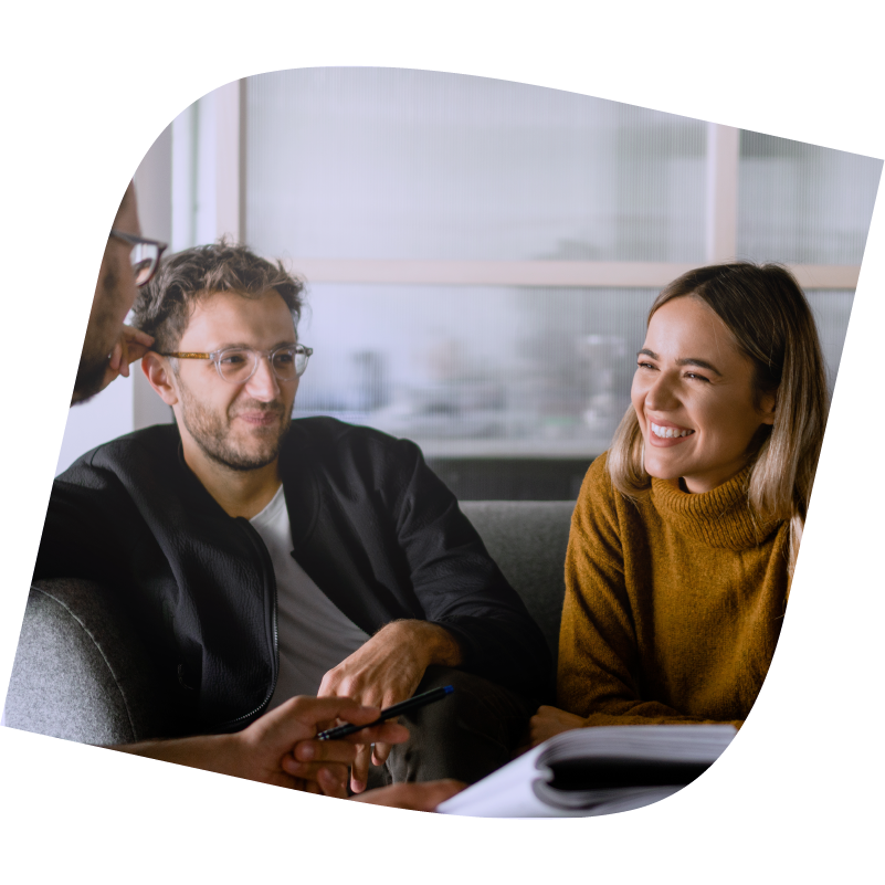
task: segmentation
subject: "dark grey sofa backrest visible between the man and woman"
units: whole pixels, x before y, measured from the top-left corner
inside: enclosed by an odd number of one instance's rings
[[[556,662],[575,502],[464,501],[461,509],[538,622]]]

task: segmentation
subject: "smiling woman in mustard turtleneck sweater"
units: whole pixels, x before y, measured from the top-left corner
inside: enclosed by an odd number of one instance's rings
[[[671,283],[632,404],[572,517],[558,707],[598,725],[740,727],[775,654],[826,421],[814,319],[778,265]]]

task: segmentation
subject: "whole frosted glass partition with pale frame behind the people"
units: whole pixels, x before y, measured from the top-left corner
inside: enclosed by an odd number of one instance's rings
[[[330,67],[201,97],[136,187],[173,250],[228,234],[306,278],[296,417],[413,439],[462,498],[560,499],[629,404],[652,301],[692,266],[789,264],[832,392],[882,168],[575,93]],[[113,386],[130,425],[87,419],[107,392],[72,410],[59,470],[170,420],[135,375]]]

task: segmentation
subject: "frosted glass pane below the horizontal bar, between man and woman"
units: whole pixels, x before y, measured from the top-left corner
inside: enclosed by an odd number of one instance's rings
[[[431,457],[581,457],[630,402],[656,289],[315,285],[296,414],[333,414]],[[809,292],[830,387],[853,293]]]

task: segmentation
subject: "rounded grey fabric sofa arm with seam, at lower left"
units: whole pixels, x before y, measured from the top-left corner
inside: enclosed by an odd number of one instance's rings
[[[168,731],[154,670],[113,596],[89,581],[38,581],[25,605],[6,725],[81,744]]]

